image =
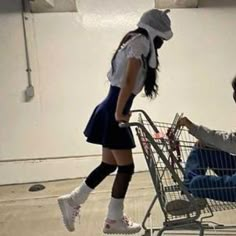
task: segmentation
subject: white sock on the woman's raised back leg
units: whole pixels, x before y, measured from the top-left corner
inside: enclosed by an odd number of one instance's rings
[[[75,205],[81,205],[83,204],[89,194],[93,191],[92,188],[90,188],[85,182],[83,182],[79,187],[75,188],[71,194],[70,197]]]

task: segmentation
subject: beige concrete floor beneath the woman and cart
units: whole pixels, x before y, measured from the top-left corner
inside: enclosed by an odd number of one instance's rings
[[[0,187],[0,236],[98,236],[102,235],[103,219],[106,215],[113,176],[108,177],[88,199],[77,220],[76,231],[69,233],[62,224],[56,198],[71,191],[82,179],[43,183],[45,189],[29,192],[30,184]],[[154,196],[148,173],[136,173],[126,199],[126,213],[141,222]],[[158,204],[153,212],[153,226],[160,226],[163,214]],[[210,220],[234,224],[234,210],[216,213]],[[138,234],[143,235],[143,231]],[[156,235],[156,234],[153,234]],[[163,235],[197,235],[193,231],[166,232]],[[234,231],[209,231],[205,235],[236,235]]]

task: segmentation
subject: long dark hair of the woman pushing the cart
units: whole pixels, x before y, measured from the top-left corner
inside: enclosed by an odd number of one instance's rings
[[[116,51],[112,57],[112,60],[111,60],[112,73],[114,72],[114,60],[115,60],[115,57],[116,57],[119,49],[122,47],[122,45],[124,43],[126,43],[128,40],[130,40],[135,34],[142,34],[148,38],[148,32],[142,28],[137,28],[136,30],[128,32],[121,40],[118,48],[116,49]],[[151,99],[155,98],[158,94],[158,85],[156,83],[156,80],[157,80],[157,71],[159,71],[159,60],[158,60],[158,55],[156,55],[156,56],[157,56],[156,57],[157,58],[156,68],[151,68],[149,66],[148,61],[150,58],[150,52],[146,58],[143,57],[146,60],[146,64],[147,64],[147,74],[146,74],[146,79],[144,81],[144,92],[145,92],[145,95]]]

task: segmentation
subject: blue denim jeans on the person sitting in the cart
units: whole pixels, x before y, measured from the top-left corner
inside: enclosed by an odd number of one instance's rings
[[[206,175],[208,169],[216,175]],[[194,148],[186,162],[184,183],[195,197],[236,201],[236,156]]]

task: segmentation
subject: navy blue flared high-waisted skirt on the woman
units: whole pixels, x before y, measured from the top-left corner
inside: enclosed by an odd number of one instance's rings
[[[120,88],[111,86],[105,100],[93,111],[85,128],[87,142],[100,144],[109,149],[131,149],[135,147],[130,128],[120,128],[115,120],[115,110]],[[135,95],[131,95],[123,114],[128,114]]]

